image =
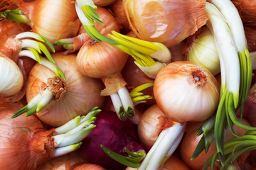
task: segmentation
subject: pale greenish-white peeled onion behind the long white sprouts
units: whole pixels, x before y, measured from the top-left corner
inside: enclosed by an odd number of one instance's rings
[[[220,73],[217,47],[208,27],[203,27],[188,37],[187,43],[186,60],[201,64],[213,75]]]

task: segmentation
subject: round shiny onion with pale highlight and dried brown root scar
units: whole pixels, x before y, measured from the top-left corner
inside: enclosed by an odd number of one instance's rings
[[[178,122],[206,120],[218,106],[218,82],[201,65],[178,61],[167,64],[154,81],[156,103]]]

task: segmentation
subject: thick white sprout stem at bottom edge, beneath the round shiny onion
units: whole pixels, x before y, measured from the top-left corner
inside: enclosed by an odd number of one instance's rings
[[[185,128],[186,123],[182,125],[180,123],[176,123],[176,125],[163,130],[153,147],[151,147],[148,154],[146,154],[141,166],[139,166],[139,170],[159,169],[161,164],[164,162],[164,158],[170,157],[178,147]]]

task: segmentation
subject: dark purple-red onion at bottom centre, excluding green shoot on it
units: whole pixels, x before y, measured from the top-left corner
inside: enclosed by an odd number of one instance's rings
[[[100,145],[112,149],[127,156],[124,147],[134,152],[143,149],[137,142],[137,130],[129,121],[119,120],[116,113],[111,111],[102,111],[95,120],[96,128],[90,135],[82,141],[80,151],[85,159],[91,164],[98,164],[105,169],[124,169],[125,166],[114,161],[105,154]]]

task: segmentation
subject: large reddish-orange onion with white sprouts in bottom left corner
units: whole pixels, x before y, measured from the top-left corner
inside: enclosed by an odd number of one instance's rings
[[[84,119],[78,117],[64,127],[46,130],[34,115],[11,119],[11,115],[20,107],[16,103],[9,103],[0,110],[0,169],[37,169],[39,164],[43,164],[48,159],[78,149],[81,145],[80,140],[85,139],[88,132],[90,133],[93,126],[95,127],[90,124],[92,128],[85,128],[81,124]],[[93,116],[98,110],[91,113]],[[79,127],[80,125],[82,127]]]

